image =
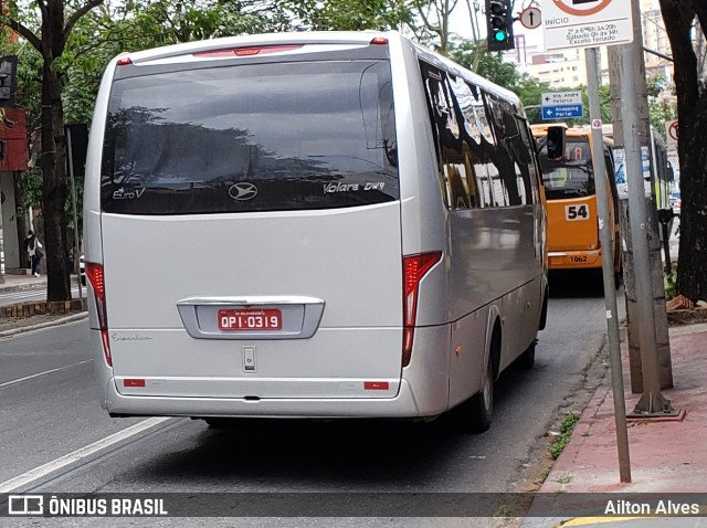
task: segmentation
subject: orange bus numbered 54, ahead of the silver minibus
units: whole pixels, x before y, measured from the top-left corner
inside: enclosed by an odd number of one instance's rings
[[[561,159],[547,156],[547,130],[550,126],[566,128],[564,154]],[[549,270],[599,270],[601,273],[601,243],[599,215],[592,163],[591,129],[567,128],[564,124],[531,125],[540,151],[540,167],[548,209],[548,266]],[[604,136],[603,154],[606,165],[611,241],[614,273],[621,271],[619,237],[619,192],[614,177],[613,140]],[[601,276],[601,275],[600,275]]]

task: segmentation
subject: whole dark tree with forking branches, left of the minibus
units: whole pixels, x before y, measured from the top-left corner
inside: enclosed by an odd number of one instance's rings
[[[17,0],[9,2],[7,15],[0,24],[7,25],[27,40],[42,55],[42,210],[44,215],[44,244],[46,246],[46,299],[71,299],[68,254],[66,244],[66,138],[64,136],[64,107],[62,80],[56,61],[61,59],[76,22],[103,3],[86,0],[74,3],[65,0],[36,0],[39,19],[32,13],[22,15]],[[34,25],[33,31],[31,27]]]

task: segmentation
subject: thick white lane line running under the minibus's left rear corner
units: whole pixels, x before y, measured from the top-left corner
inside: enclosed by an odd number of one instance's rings
[[[48,462],[44,465],[35,467],[34,469],[30,469],[22,475],[19,475],[14,478],[10,478],[3,483],[0,483],[0,494],[1,493],[10,493],[14,489],[18,489],[22,486],[27,486],[32,481],[36,481],[38,478],[42,478],[50,473],[53,473],[62,467],[66,467],[82,458],[93,455],[101,450],[105,450],[118,442],[123,442],[130,436],[135,436],[144,431],[147,431],[150,427],[155,427],[167,420],[171,420],[170,416],[156,416],[148,418],[147,420],[136,423],[135,425],[130,425],[123,431],[118,431],[117,433],[112,434],[110,436],[106,436],[105,439],[98,440],[93,444],[86,445],[80,450],[74,451],[73,453],[68,453],[67,455],[61,456],[55,461]]]

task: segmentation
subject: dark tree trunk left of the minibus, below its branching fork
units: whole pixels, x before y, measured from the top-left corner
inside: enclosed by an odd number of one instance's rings
[[[44,186],[44,244],[46,251],[46,299],[71,299],[71,284],[66,261],[66,139],[61,82],[45,57],[42,83],[42,172]]]

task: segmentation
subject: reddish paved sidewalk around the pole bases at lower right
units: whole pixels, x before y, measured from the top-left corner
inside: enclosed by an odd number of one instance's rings
[[[620,483],[613,394],[611,376],[608,373],[584,409],[570,443],[538,490],[548,495],[536,498],[530,508],[536,517],[526,517],[520,525],[523,528],[605,526],[608,521],[611,526],[620,525],[622,528],[707,528],[707,517],[704,517],[707,515],[707,324],[672,327],[669,335],[675,387],[662,393],[675,410],[685,412],[684,419],[630,420],[632,482]],[[626,342],[622,344],[622,357],[626,411],[631,412],[641,394],[631,393]],[[561,514],[558,514],[563,517],[537,517],[548,511],[542,500],[549,500],[549,497],[564,505]],[[590,517],[598,515],[598,506],[605,509],[609,500],[655,504],[661,498],[673,501],[683,499],[688,504],[697,501],[703,517]],[[572,500],[577,501],[574,509],[567,507]],[[585,511],[582,511],[582,506],[588,506]],[[568,509],[577,517],[566,516]],[[601,515],[604,513],[600,511]],[[616,514],[620,513],[616,510]],[[587,517],[580,517],[582,515]]]

